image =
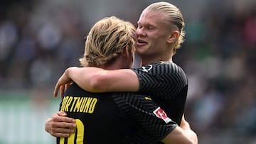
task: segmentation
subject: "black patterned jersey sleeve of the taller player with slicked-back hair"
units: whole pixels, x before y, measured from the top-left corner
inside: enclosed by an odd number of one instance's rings
[[[139,79],[139,92],[169,99],[188,85],[186,74],[174,63],[157,62],[132,69]]]

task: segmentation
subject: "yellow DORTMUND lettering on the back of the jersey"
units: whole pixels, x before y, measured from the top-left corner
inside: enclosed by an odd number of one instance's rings
[[[61,111],[93,113],[97,104],[97,98],[94,97],[75,97],[64,96],[61,103]]]

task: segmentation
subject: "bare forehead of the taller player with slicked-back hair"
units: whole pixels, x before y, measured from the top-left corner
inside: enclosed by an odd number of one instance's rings
[[[165,20],[165,13],[160,11],[143,11],[139,17],[138,23],[140,24],[151,24],[151,25],[162,25]]]

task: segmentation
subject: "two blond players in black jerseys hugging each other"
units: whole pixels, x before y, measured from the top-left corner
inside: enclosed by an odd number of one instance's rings
[[[60,111],[46,121],[57,143],[198,143],[183,116],[188,80],[172,57],[185,35],[181,11],[156,2],[138,27],[114,16],[92,26],[80,58],[58,79]],[[142,67],[131,68],[134,53]]]

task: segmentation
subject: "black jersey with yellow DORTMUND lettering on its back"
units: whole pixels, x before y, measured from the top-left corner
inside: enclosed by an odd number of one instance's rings
[[[156,143],[177,126],[150,96],[90,93],[77,84],[66,90],[60,111],[75,118],[77,129],[58,144]]]

